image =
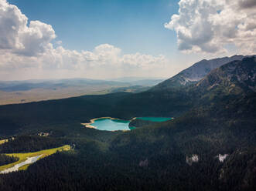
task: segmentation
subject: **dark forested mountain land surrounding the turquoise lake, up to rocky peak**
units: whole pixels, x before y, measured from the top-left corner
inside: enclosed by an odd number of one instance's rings
[[[181,89],[0,106],[0,135],[15,136],[0,152],[73,146],[0,174],[0,190],[254,190],[255,65],[228,62]],[[175,119],[128,132],[80,125],[102,116]]]

